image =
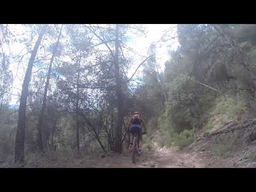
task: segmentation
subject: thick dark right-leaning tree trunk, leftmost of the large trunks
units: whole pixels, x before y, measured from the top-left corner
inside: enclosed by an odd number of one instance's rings
[[[39,37],[36,41],[33,52],[31,53],[28,68],[26,71],[26,75],[22,84],[22,91],[20,97],[20,107],[19,107],[19,116],[18,116],[18,126],[17,132],[15,136],[15,148],[14,148],[14,162],[15,163],[24,163],[24,142],[25,142],[25,127],[26,127],[26,105],[27,105],[27,97],[28,97],[28,86],[30,83],[31,71],[34,65],[36,53],[38,47],[42,41],[44,32],[46,30],[47,25],[44,25]]]

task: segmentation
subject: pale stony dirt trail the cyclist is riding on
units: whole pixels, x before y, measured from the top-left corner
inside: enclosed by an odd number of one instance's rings
[[[111,154],[101,158],[99,162],[94,163],[92,166],[113,168],[202,168],[207,164],[203,154],[182,153],[165,147],[161,148],[156,141],[153,141],[153,144],[155,145],[155,150],[137,156],[136,164],[131,162],[131,153],[124,153],[121,155]]]

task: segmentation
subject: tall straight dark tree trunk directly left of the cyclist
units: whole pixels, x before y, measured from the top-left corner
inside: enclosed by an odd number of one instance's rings
[[[115,151],[122,153],[122,124],[123,124],[123,92],[121,87],[121,77],[119,70],[119,26],[116,25],[116,41],[115,41],[115,80],[116,80],[116,94],[117,94],[117,110],[118,118],[115,127]]]

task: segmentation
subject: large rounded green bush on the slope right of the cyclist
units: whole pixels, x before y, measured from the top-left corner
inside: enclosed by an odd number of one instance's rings
[[[170,84],[169,101],[161,126],[172,125],[172,131],[200,129],[205,121],[205,111],[213,106],[214,94],[200,94],[193,77],[180,75]],[[198,92],[198,93],[197,93]]]

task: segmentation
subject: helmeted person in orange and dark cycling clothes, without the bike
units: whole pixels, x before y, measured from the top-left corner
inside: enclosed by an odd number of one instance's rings
[[[140,117],[140,112],[136,111],[133,113],[128,127],[129,127],[129,133],[132,133],[132,140],[131,140],[131,134],[129,134],[130,149],[132,149],[132,141],[133,141],[134,133],[137,133],[138,135],[138,139],[137,139],[138,153],[141,153],[141,146],[139,144],[142,139],[142,126],[145,129],[145,122]]]

